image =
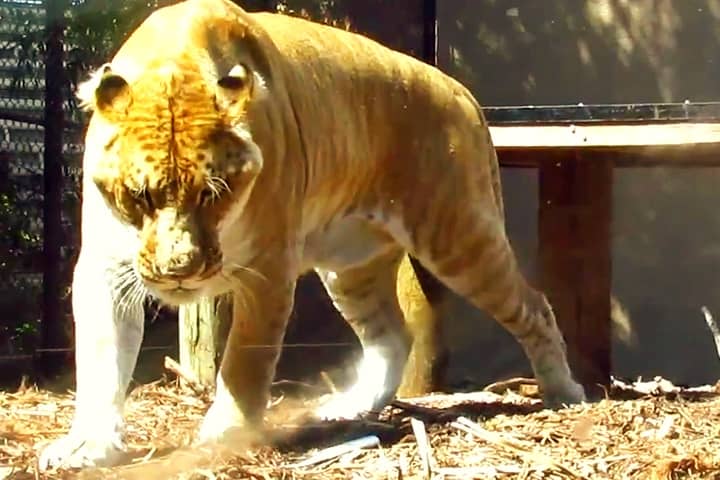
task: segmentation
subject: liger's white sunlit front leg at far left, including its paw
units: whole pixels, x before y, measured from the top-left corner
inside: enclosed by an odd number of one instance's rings
[[[143,337],[143,297],[128,285],[130,267],[81,251],[75,267],[76,400],[70,431],[47,446],[41,470],[111,466],[122,461],[123,406]],[[139,288],[139,287],[136,287]]]

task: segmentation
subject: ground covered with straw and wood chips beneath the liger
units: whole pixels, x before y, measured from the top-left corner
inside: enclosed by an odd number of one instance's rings
[[[505,382],[323,423],[299,421],[308,405],[281,390],[268,413],[272,446],[250,447],[241,432],[232,448],[198,448],[190,441],[209,395],[177,380],[140,386],[125,465],[44,474],[37,450],[68,428],[72,394],[0,393],[0,479],[720,479],[716,385],[614,380],[602,401],[550,411],[531,381]]]

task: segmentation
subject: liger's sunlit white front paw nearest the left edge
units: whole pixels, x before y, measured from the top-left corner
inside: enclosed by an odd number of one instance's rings
[[[127,455],[119,435],[90,438],[68,433],[40,453],[41,471],[53,468],[110,467],[122,463]]]

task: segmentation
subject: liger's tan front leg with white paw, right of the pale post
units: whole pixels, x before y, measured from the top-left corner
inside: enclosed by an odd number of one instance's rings
[[[234,292],[233,322],[199,442],[220,441],[235,427],[257,431],[262,425],[295,292],[295,277],[278,270],[253,275]]]

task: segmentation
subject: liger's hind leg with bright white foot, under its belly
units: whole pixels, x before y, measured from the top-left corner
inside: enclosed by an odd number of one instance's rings
[[[402,250],[393,248],[359,267],[340,272],[317,270],[363,348],[355,384],[321,405],[319,417],[354,418],[382,409],[395,397],[411,344],[395,284],[403,255]]]

